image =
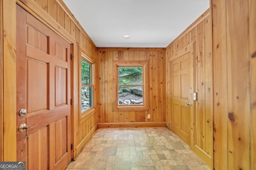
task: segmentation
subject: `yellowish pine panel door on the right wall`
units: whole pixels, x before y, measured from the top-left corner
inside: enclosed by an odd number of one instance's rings
[[[191,49],[171,61],[171,130],[191,146],[193,126],[193,52]],[[191,123],[192,121],[192,123]],[[191,136],[192,135],[192,136]]]

